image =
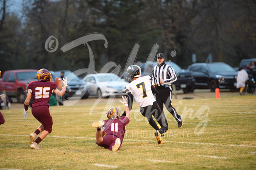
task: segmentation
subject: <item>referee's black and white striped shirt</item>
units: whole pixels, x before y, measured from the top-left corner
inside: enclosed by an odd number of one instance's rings
[[[154,66],[152,69],[152,84],[156,84],[157,86],[164,86],[168,84],[172,84],[177,80],[176,74],[173,68],[170,65],[163,64],[161,66]],[[164,84],[161,84],[161,79],[164,80]]]

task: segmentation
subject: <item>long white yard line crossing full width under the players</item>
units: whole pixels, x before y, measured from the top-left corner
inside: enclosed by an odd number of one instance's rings
[[[26,136],[29,135],[19,135],[19,134],[0,134],[0,136]],[[75,137],[75,136],[51,136],[48,135],[47,137],[57,137],[57,138],[79,138],[79,139],[90,139],[95,140],[95,137]],[[123,141],[146,141],[146,142],[155,142],[151,140],[135,140],[135,139],[124,139]],[[222,144],[212,144],[212,143],[199,143],[199,142],[176,142],[176,141],[164,141],[164,143],[179,143],[179,144],[192,144],[192,145],[218,145],[218,146],[235,146],[235,147],[252,147],[256,148],[256,146],[250,145],[222,145]]]

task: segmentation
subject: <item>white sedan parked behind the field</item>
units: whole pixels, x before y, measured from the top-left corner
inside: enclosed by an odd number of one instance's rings
[[[109,96],[126,95],[124,87],[128,82],[121,79],[119,76],[113,73],[97,73],[89,74],[83,78],[83,80],[89,86],[90,95]]]

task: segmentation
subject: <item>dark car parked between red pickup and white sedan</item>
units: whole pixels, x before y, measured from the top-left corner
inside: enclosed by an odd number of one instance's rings
[[[68,79],[68,87],[62,99],[67,99],[73,95],[88,98],[89,92],[87,84],[83,83],[82,79],[69,70],[50,71],[52,73],[52,81],[54,81],[56,77],[60,77],[60,72],[62,71],[64,72],[64,78],[67,77]]]

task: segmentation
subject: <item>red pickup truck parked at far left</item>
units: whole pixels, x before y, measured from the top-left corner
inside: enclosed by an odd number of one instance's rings
[[[15,97],[19,103],[26,99],[27,85],[31,81],[36,81],[38,70],[9,70],[5,71],[0,80],[0,92],[6,91],[8,97]]]

